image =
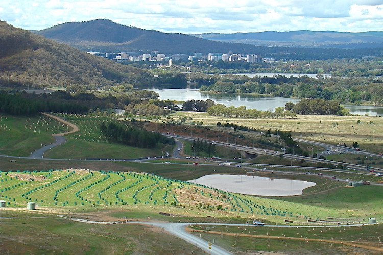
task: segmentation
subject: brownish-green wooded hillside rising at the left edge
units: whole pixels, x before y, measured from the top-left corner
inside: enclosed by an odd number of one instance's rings
[[[99,88],[131,83],[143,71],[92,56],[0,21],[0,86]],[[133,73],[134,72],[134,73]]]

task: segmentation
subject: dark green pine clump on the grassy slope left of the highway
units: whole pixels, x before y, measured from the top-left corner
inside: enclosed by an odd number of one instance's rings
[[[150,132],[140,129],[136,126],[130,126],[124,129],[122,125],[109,125],[102,123],[100,126],[101,134],[109,141],[121,143],[138,148],[155,148],[158,143],[174,145],[174,138],[168,138],[158,132]]]

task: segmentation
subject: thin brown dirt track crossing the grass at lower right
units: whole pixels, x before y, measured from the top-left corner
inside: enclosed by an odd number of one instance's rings
[[[363,248],[363,249],[368,249],[368,250],[374,250],[374,251],[379,251],[379,252],[383,253],[383,248],[380,248],[380,247],[374,247],[374,246],[369,246],[366,244],[357,244],[357,243],[338,241],[338,240],[300,238],[300,237],[284,237],[284,236],[279,237],[279,236],[265,236],[265,235],[250,235],[250,234],[242,234],[242,233],[225,233],[225,232],[220,232],[220,231],[192,230],[190,228],[187,228],[187,231],[189,231],[189,232],[205,232],[205,233],[226,235],[226,236],[271,238],[271,239],[291,239],[291,240],[300,240],[300,241],[326,242],[326,243],[349,245],[349,246],[353,246],[353,247],[358,247],[358,248]]]

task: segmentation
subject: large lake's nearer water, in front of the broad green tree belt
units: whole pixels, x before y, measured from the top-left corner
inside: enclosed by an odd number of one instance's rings
[[[300,99],[285,97],[266,97],[246,94],[225,94],[199,92],[198,89],[150,89],[159,94],[160,100],[206,100],[211,99],[216,103],[224,104],[227,107],[246,106],[247,109],[257,109],[261,111],[274,110],[277,107],[284,107],[286,103],[293,102],[297,104]],[[350,109],[351,114],[370,116],[383,116],[383,107],[379,106],[354,106],[345,105]]]

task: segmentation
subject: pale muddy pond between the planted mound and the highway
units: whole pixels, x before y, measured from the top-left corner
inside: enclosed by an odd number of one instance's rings
[[[189,182],[206,185],[227,192],[258,196],[301,195],[305,188],[316,185],[313,182],[275,179],[259,176],[211,174]]]

